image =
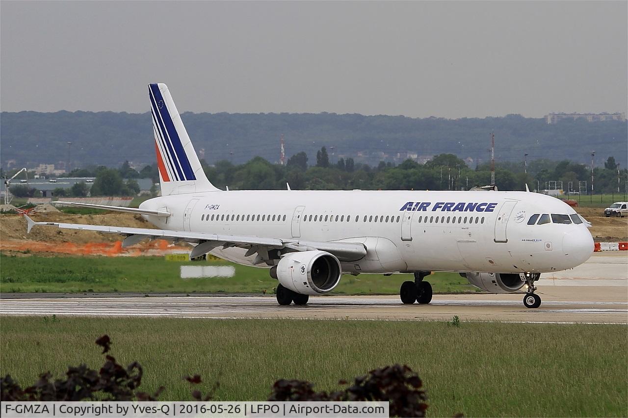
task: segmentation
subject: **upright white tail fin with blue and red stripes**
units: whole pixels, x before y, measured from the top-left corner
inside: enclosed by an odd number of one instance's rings
[[[175,102],[163,83],[149,84],[161,195],[215,191],[207,180]]]

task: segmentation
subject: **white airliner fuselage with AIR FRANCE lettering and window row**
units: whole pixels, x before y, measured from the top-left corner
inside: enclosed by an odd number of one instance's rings
[[[210,191],[145,201],[168,218],[156,227],[303,241],[359,242],[352,273],[403,271],[549,272],[593,252],[585,223],[528,225],[533,214],[573,215],[562,201],[517,191]],[[253,265],[246,249],[212,254]],[[261,265],[260,267],[268,267]]]

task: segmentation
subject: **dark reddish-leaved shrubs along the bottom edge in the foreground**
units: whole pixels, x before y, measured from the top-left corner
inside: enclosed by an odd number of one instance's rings
[[[150,401],[157,398],[165,389],[160,386],[153,394],[138,390],[142,383],[144,369],[138,362],[126,367],[116,358],[107,354],[111,349],[111,338],[103,335],[95,343],[102,347],[105,362],[94,370],[82,364],[68,367],[65,378],[53,380],[50,372],[41,373],[33,385],[23,388],[6,375],[0,378],[0,400],[4,401],[80,401],[80,400],[138,400]],[[200,375],[183,377],[189,383],[202,383]],[[348,385],[345,381],[338,382]],[[371,370],[364,376],[356,377],[344,390],[337,392],[315,392],[313,384],[305,380],[277,380],[271,390],[270,401],[384,401],[389,402],[391,416],[425,417],[427,399],[421,389],[423,382],[406,365],[392,365]],[[200,390],[192,391],[192,398],[207,402],[214,399],[219,388],[216,382],[207,394]]]

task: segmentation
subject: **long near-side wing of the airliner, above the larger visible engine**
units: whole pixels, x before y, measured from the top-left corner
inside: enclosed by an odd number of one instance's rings
[[[211,250],[217,247],[223,247],[224,249],[229,247],[241,247],[248,249],[246,255],[264,254],[268,253],[271,249],[283,249],[290,248],[298,251],[306,250],[322,250],[330,252],[343,261],[359,260],[366,255],[366,248],[364,244],[354,242],[318,242],[318,241],[301,241],[298,239],[279,239],[279,238],[264,238],[254,237],[246,235],[229,235],[223,233],[206,233],[206,232],[190,232],[190,231],[175,231],[167,229],[151,229],[151,228],[129,228],[129,227],[112,227],[107,225],[84,225],[82,223],[62,223],[62,222],[35,222],[27,215],[26,222],[28,222],[27,232],[31,232],[31,229],[35,225],[45,225],[49,227],[58,227],[65,229],[78,229],[85,231],[97,231],[104,233],[117,233],[119,235],[126,235],[126,238],[122,241],[122,247],[128,247],[129,245],[137,244],[141,240],[146,238],[155,239],[161,238],[173,241],[185,241],[192,244],[197,244],[192,252],[190,252],[190,258],[198,257],[203,254],[207,254]],[[264,251],[261,251],[261,250]],[[263,260],[261,257],[260,262]]]

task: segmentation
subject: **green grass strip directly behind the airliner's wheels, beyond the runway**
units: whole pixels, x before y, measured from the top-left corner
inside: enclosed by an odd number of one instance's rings
[[[223,292],[273,293],[277,281],[268,269],[226,261],[173,262],[164,257],[40,257],[0,254],[1,292]],[[234,265],[234,277],[180,278],[181,265]],[[409,274],[345,275],[332,294],[397,294]],[[438,273],[428,280],[435,292],[475,291],[455,273]]]

